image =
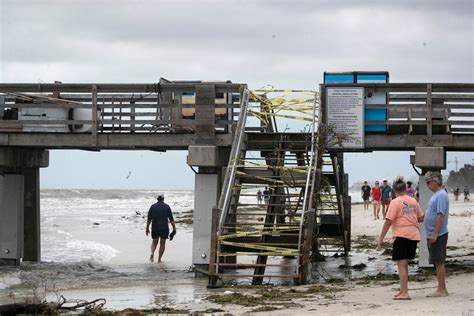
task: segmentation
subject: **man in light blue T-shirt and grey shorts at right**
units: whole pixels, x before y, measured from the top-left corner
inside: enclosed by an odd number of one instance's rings
[[[438,287],[428,297],[448,296],[446,289],[446,247],[448,244],[449,197],[443,190],[443,177],[438,171],[428,171],[424,180],[433,192],[425,212],[425,232],[428,243],[429,261],[436,267]]]

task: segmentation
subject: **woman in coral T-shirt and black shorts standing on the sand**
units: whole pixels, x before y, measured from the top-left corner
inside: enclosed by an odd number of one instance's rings
[[[407,185],[403,177],[393,181],[393,191],[396,198],[390,203],[385,222],[377,242],[377,250],[381,250],[383,239],[392,227],[393,251],[392,260],[397,261],[400,277],[400,291],[394,300],[410,300],[408,295],[408,260],[413,260],[416,247],[420,241],[420,222],[423,221],[423,211],[418,202],[406,193]]]

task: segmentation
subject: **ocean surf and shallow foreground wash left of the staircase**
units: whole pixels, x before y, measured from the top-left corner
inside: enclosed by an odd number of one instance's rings
[[[108,308],[156,306],[157,293],[169,284],[189,295],[168,303],[192,300],[194,291],[205,289],[190,269],[192,225],[177,224],[164,262],[149,263],[146,216],[158,192],[175,218],[193,209],[193,191],[42,190],[41,262],[1,267],[0,305],[32,296],[56,301],[61,293],[91,300],[105,296]]]

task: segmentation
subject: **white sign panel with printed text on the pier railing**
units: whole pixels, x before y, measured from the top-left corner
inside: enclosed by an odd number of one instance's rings
[[[326,88],[327,123],[345,139],[331,148],[364,148],[364,88]]]

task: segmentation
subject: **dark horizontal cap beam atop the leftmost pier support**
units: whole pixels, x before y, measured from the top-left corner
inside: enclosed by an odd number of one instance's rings
[[[0,167],[46,168],[48,165],[47,150],[0,147]]]

